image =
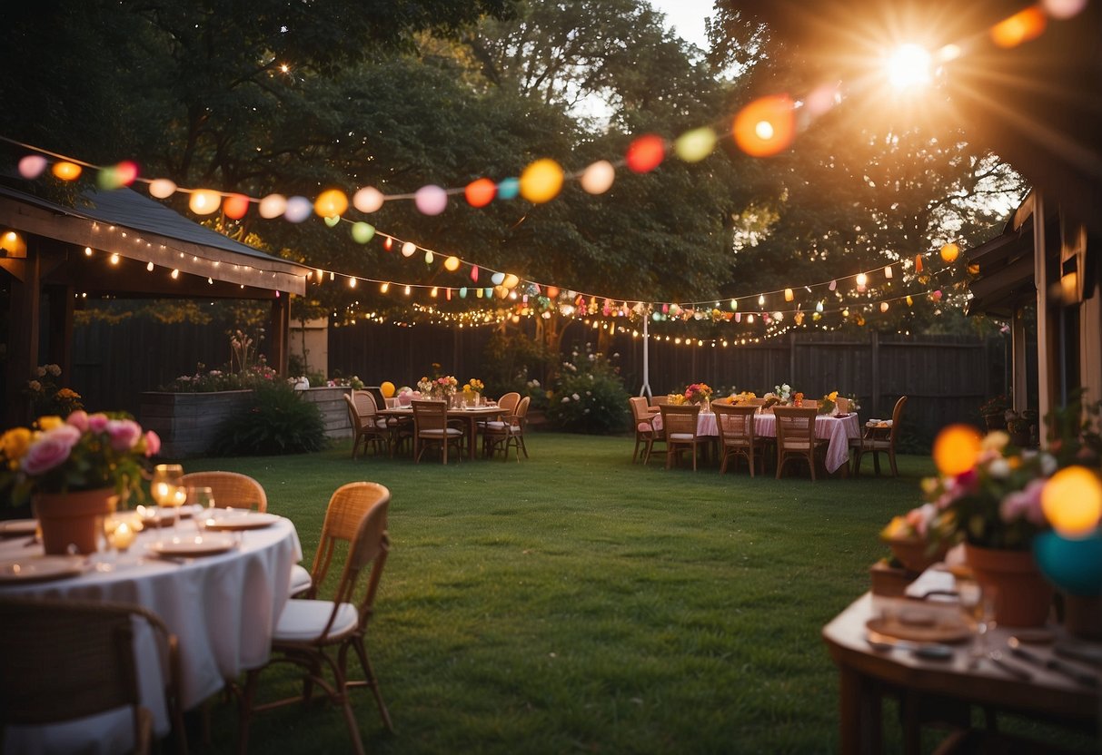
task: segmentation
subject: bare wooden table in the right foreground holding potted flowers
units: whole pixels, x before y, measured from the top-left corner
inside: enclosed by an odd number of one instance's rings
[[[898,648],[874,650],[866,642],[865,623],[880,615],[885,606],[908,604],[923,605],[907,599],[865,593],[823,627],[822,637],[838,665],[841,681],[841,752],[880,752],[880,700],[885,694],[900,700],[906,753],[919,752],[919,711],[921,703],[931,699],[949,702],[965,714],[971,705],[977,704],[1093,731],[1096,735],[1098,689],[1012,656],[1006,652],[1006,641],[1014,634],[1013,628],[996,627],[988,636],[988,648],[1003,650],[1007,663],[1029,671],[1033,675],[1029,681],[1012,676],[986,658],[973,667],[971,641],[952,645],[953,655],[947,660],[923,660]],[[1068,637],[1060,627],[1054,631],[1056,643],[1031,644],[1028,650],[1042,660],[1059,657],[1054,647],[1068,642]],[[1099,649],[1095,644],[1089,646]],[[1061,660],[1079,670],[1099,674],[1096,667],[1066,658]]]

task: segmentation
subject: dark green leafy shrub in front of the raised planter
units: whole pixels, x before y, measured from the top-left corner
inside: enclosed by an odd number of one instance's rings
[[[260,383],[241,411],[215,431],[215,456],[309,453],[328,445],[317,404],[282,381]]]

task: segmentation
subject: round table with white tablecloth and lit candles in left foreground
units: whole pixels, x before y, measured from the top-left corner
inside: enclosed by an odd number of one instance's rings
[[[272,632],[288,600],[291,567],[302,558],[290,519],[257,512],[248,516],[255,518],[217,533],[201,532],[198,522],[191,518],[173,527],[145,528],[126,552],[68,557],[74,565],[71,570],[36,570],[36,563],[56,563],[57,557],[42,560],[42,546],[33,537],[4,537],[0,539],[0,600],[32,595],[112,601],[152,611],[180,641],[180,701],[188,710],[220,690],[227,679],[268,661]],[[197,537],[218,547],[180,545]],[[52,571],[63,573],[55,577]],[[30,576],[21,577],[24,573]],[[139,632],[136,656],[142,702],[153,713],[154,732],[164,736],[171,729],[162,692],[165,671],[148,627]],[[129,731],[125,709],[62,725],[9,727],[4,753],[76,752],[78,747],[79,752],[115,752],[120,742],[130,740]]]

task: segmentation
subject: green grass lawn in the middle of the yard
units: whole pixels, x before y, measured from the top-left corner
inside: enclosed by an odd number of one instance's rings
[[[920,496],[900,477],[750,479],[630,463],[629,438],[529,434],[521,463],[302,457],[193,460],[267,489],[305,562],[328,496],[392,493],[393,550],[368,636],[397,734],[356,692],[376,753],[807,753],[838,748],[820,638],[868,588],[878,530]],[[871,472],[871,470],[868,470]],[[269,689],[291,689],[270,670]],[[215,710],[214,752],[236,747]],[[252,752],[346,752],[331,707],[261,713]]]

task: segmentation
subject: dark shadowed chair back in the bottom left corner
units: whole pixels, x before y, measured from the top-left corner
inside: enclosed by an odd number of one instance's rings
[[[175,635],[139,605],[69,599],[0,599],[0,744],[8,726],[57,724],[129,708],[133,752],[150,752],[153,714],[141,704],[134,657],[141,623],[160,655],[176,751],[186,753]]]

